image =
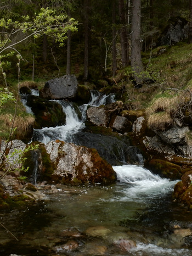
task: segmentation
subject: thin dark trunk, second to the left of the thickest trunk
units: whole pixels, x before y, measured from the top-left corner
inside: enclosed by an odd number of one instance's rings
[[[112,76],[115,76],[117,71],[117,58],[116,58],[116,0],[112,2]]]

